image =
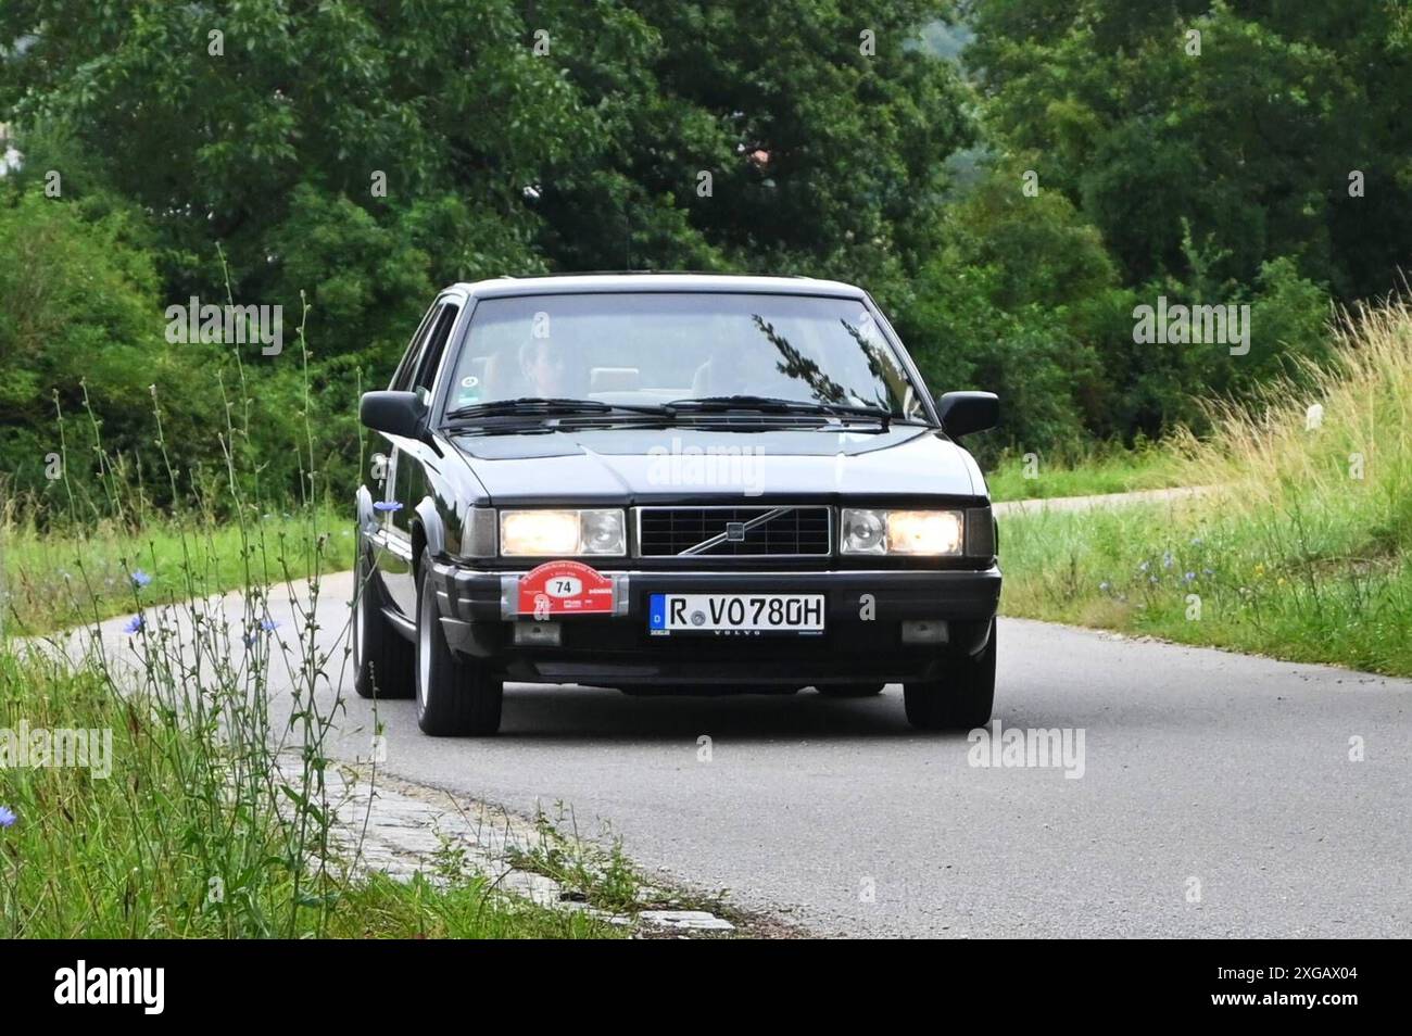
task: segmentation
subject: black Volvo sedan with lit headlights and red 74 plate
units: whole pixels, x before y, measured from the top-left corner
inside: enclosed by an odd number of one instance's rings
[[[361,421],[359,693],[493,734],[505,680],[877,694],[983,725],[1000,567],[936,401],[867,292],[803,278],[443,291]]]

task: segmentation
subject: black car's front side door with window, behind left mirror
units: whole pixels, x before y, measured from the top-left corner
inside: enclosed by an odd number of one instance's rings
[[[412,363],[405,370],[398,371],[400,377],[405,380],[397,388],[417,392],[428,406],[436,387],[436,374],[446,351],[446,342],[450,339],[452,327],[459,315],[459,298],[443,296],[438,299],[436,309],[426,322],[421,347],[411,357]],[[417,614],[417,559],[412,556],[412,522],[417,517],[417,505],[426,495],[429,484],[426,469],[439,464],[441,457],[431,446],[418,439],[388,436],[388,440],[393,450],[387,459],[387,478],[384,481],[383,532],[387,562],[383,566],[383,586],[397,610],[412,618]]]

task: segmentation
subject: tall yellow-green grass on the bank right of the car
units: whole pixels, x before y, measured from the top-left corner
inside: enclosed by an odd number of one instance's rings
[[[1332,335],[1327,368],[1173,443],[1183,481],[1220,491],[1003,519],[1004,610],[1412,673],[1412,311],[1394,298]]]

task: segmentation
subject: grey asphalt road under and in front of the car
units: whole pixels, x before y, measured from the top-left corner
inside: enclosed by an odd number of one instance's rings
[[[335,682],[352,591],[328,579],[316,611]],[[292,639],[289,603],[273,614]],[[131,656],[121,621],[104,639]],[[336,752],[367,758],[371,707],[346,675]],[[964,734],[907,725],[897,686],[836,701],[510,685],[489,740],[424,737],[409,701],[380,710],[398,776],[517,813],[562,802],[645,869],[822,934],[1412,934],[1409,680],[1003,620],[998,720],[1082,730],[1082,776],[1075,757],[970,765]]]

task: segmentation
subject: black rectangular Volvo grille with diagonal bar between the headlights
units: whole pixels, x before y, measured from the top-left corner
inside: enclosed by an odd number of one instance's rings
[[[826,558],[833,541],[827,507],[641,507],[637,522],[642,558]]]

